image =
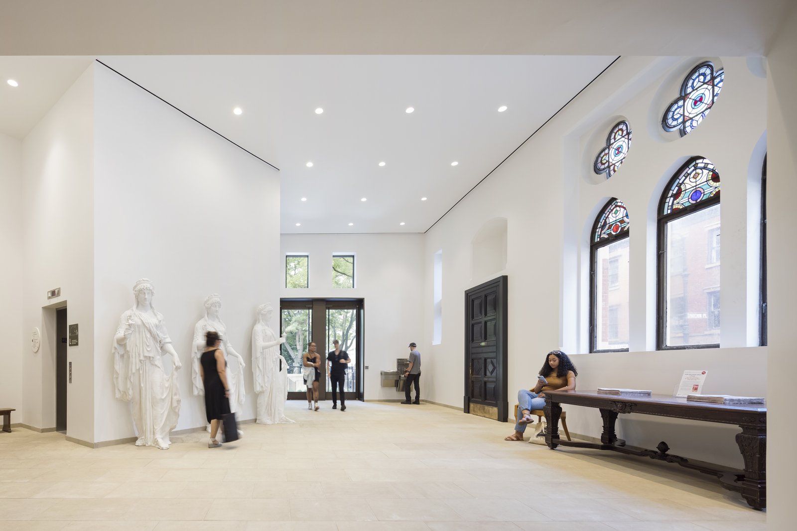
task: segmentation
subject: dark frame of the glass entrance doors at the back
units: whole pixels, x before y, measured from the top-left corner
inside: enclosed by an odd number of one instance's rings
[[[282,333],[282,310],[283,309],[309,309],[312,313],[312,325],[310,329],[311,337],[309,342],[316,343],[316,352],[319,353],[324,365],[321,366],[321,379],[318,385],[318,400],[329,400],[332,393],[327,391],[327,310],[357,310],[355,317],[357,322],[357,358],[355,363],[355,382],[354,391],[346,392],[346,400],[365,400],[363,370],[365,367],[365,299],[280,299],[280,334]],[[305,400],[305,392],[289,392],[289,400]]]

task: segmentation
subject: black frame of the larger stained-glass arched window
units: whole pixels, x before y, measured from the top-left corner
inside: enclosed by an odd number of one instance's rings
[[[674,182],[677,181],[678,178],[681,177],[681,174],[684,173],[684,170],[688,168],[693,162],[696,160],[705,159],[706,157],[702,156],[695,156],[690,157],[689,160],[684,162],[673,174],[672,178],[666,182],[664,190],[662,191],[662,197],[659,198],[657,204],[657,217],[658,217],[658,236],[656,239],[656,252],[658,255],[658,260],[656,264],[656,283],[657,283],[657,301],[656,301],[656,348],[658,350],[687,350],[687,349],[717,349],[720,347],[720,343],[710,343],[707,345],[678,345],[678,346],[669,346],[666,345],[666,295],[667,295],[667,225],[670,221],[675,221],[680,219],[681,217],[689,216],[693,213],[696,213],[703,209],[708,209],[714,205],[720,204],[720,193],[721,193],[721,185],[720,190],[714,194],[713,197],[709,197],[703,201],[698,201],[694,205],[690,205],[683,209],[677,209],[677,212],[671,212],[669,214],[663,214],[662,210],[669,196],[669,190],[672,188]],[[715,168],[716,170],[716,168]],[[719,172],[717,172],[719,174]],[[720,177],[721,178],[721,177]],[[720,181],[721,182],[721,181]],[[720,231],[722,230],[722,225],[720,221]],[[721,248],[720,248],[720,252]],[[686,267],[686,263],[684,262],[684,267]],[[722,267],[721,264],[718,267]]]

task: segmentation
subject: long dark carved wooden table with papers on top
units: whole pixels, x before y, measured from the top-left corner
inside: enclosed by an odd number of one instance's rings
[[[601,442],[587,443],[559,439],[561,404],[598,408],[603,417]],[[544,411],[548,420],[548,434],[545,435],[545,442],[552,450],[561,444],[618,451],[622,454],[677,463],[681,467],[716,476],[726,489],[740,492],[753,509],[762,510],[767,506],[767,408],[761,406],[764,404],[724,405],[687,402],[685,398],[667,395],[615,396],[601,395],[597,391],[546,391]],[[668,453],[669,446],[664,441],[658,443],[656,450],[626,446],[626,441],[618,439],[614,431],[618,415],[625,413],[736,424],[742,429],[736,434],[736,444],[739,445],[744,458],[744,470],[671,455]]]

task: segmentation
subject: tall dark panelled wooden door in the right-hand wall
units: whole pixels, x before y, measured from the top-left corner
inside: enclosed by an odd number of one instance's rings
[[[465,291],[465,413],[506,422],[507,277]]]

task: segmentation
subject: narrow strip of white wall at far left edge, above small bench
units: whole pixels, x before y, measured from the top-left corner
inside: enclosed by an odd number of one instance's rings
[[[22,337],[22,142],[0,135],[0,407],[15,408],[11,422],[22,422],[22,357],[30,338]],[[27,342],[26,342],[27,340]]]

